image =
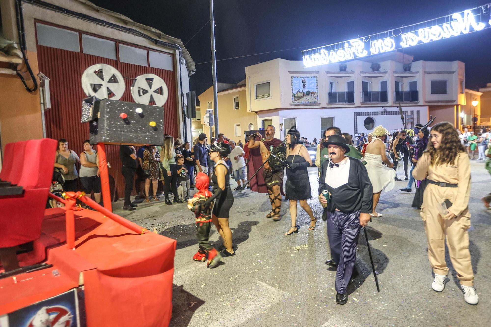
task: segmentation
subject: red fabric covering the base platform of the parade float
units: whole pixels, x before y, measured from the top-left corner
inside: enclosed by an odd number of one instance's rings
[[[47,209],[43,234],[64,241],[64,214],[64,208]],[[136,234],[85,209],[75,213],[75,235],[75,250],[49,249],[53,269],[18,275],[16,284],[0,280],[0,287],[9,284],[2,288],[0,315],[76,287],[82,273],[87,326],[168,326],[175,240]],[[55,269],[60,275],[53,278]],[[27,278],[41,274],[47,276]]]

